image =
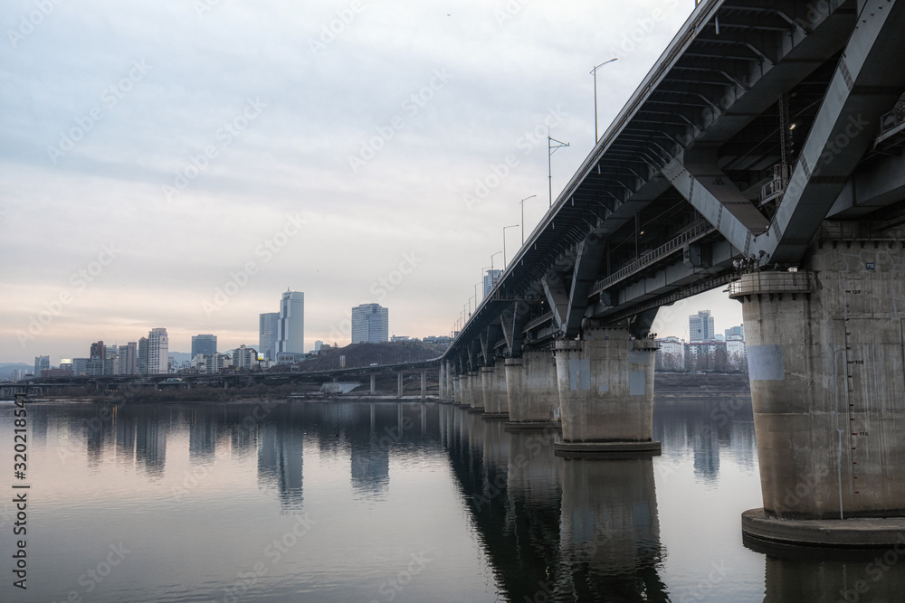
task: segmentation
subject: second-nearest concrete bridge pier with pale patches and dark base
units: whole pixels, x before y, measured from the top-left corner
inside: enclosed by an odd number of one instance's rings
[[[559,340],[557,386],[563,441],[558,455],[659,454],[653,441],[652,339],[625,327],[586,329],[580,341]]]

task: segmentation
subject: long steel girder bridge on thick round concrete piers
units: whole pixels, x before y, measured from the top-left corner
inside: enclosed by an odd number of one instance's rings
[[[561,424],[557,454],[656,454],[653,320],[729,286],[764,499],[745,532],[895,542],[845,520],[905,515],[902,32],[901,1],[700,3],[455,334],[441,399]]]

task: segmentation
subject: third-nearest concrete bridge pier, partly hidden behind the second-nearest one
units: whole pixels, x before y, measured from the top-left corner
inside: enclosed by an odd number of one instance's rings
[[[509,429],[556,428],[559,409],[556,364],[549,350],[530,350],[506,359]]]

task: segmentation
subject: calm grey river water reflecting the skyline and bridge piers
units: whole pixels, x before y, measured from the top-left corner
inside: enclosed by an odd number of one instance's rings
[[[899,551],[743,544],[750,400],[658,400],[662,456],[618,460],[433,402],[27,410],[16,480],[0,404],[2,601],[905,600]]]

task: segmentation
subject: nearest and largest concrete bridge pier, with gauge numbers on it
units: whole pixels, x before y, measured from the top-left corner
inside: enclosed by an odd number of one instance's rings
[[[885,546],[905,530],[905,228],[873,237],[824,222],[805,269],[744,274],[729,289],[764,502],[742,515],[748,536]]]

